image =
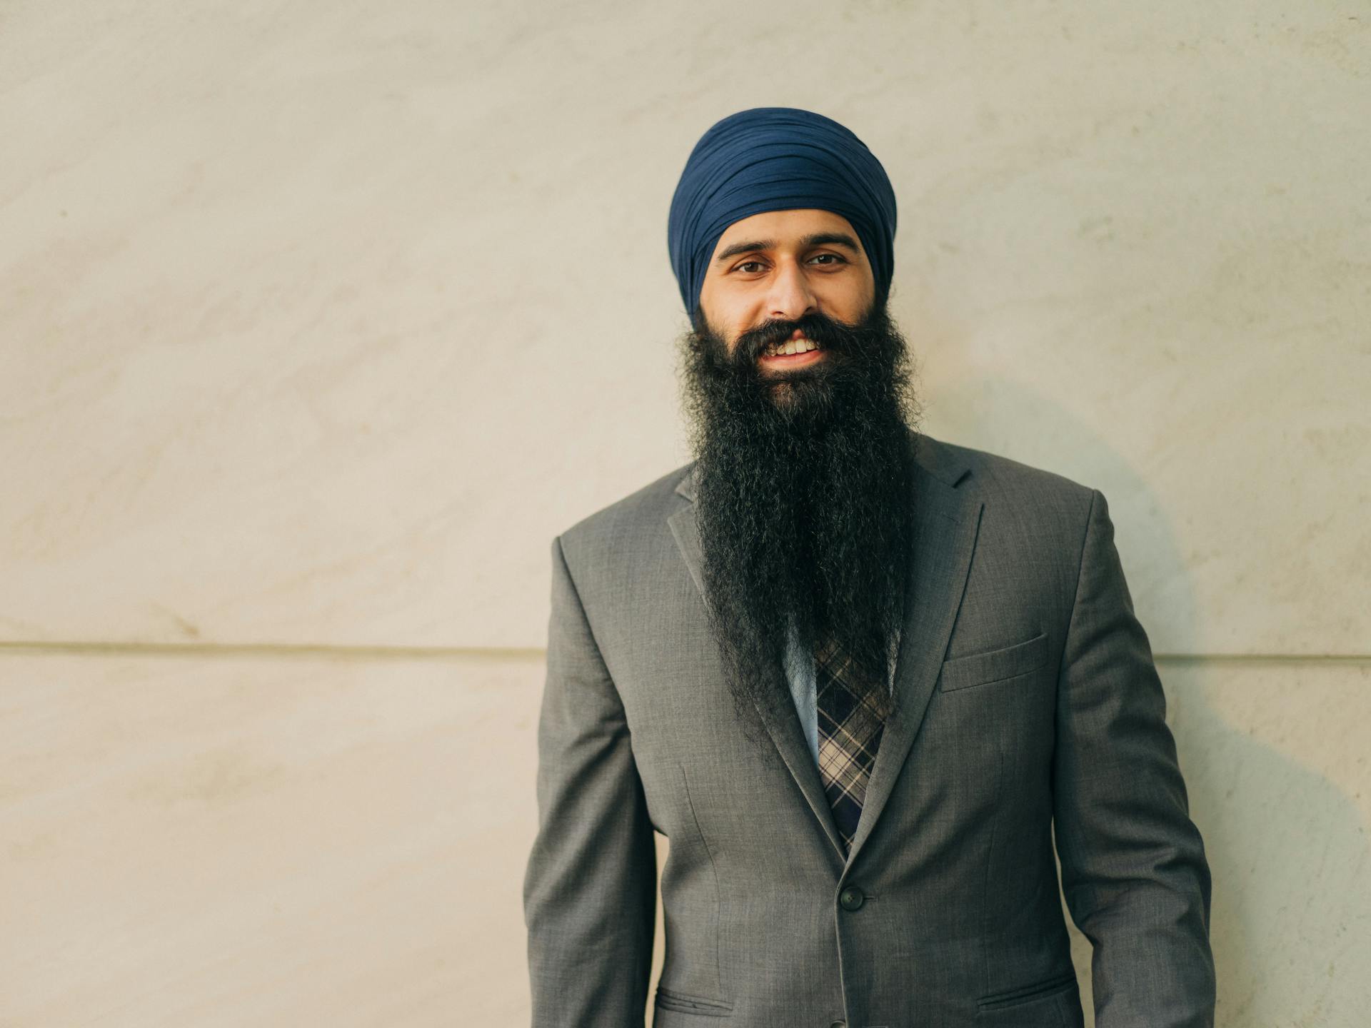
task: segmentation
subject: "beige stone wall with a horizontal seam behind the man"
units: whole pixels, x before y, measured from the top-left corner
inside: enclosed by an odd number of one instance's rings
[[[1220,1024],[1360,1024],[1368,79],[1364,3],[0,5],[0,1025],[526,1020],[548,541],[686,459],[764,104],[891,174],[924,428],[1109,498]]]

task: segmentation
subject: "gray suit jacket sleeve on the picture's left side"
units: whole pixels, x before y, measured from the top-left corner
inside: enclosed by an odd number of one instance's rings
[[[537,757],[539,827],[524,876],[533,1028],[642,1028],[657,914],[653,825],[561,536]]]

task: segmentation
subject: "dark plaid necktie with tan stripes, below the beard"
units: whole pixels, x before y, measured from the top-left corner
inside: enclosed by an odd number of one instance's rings
[[[814,652],[814,685],[818,705],[818,776],[834,810],[834,822],[851,848],[866,799],[866,781],[876,762],[876,748],[886,728],[886,707],[871,689],[858,685],[857,665],[832,639]],[[865,694],[865,699],[860,696]]]

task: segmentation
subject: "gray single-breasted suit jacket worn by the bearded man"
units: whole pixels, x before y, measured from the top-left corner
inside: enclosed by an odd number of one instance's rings
[[[886,725],[845,859],[788,696],[736,722],[706,622],[692,466],[553,541],[524,877],[535,1028],[1213,1018],[1209,869],[1105,498],[928,436]],[[1056,832],[1053,833],[1053,827]]]

